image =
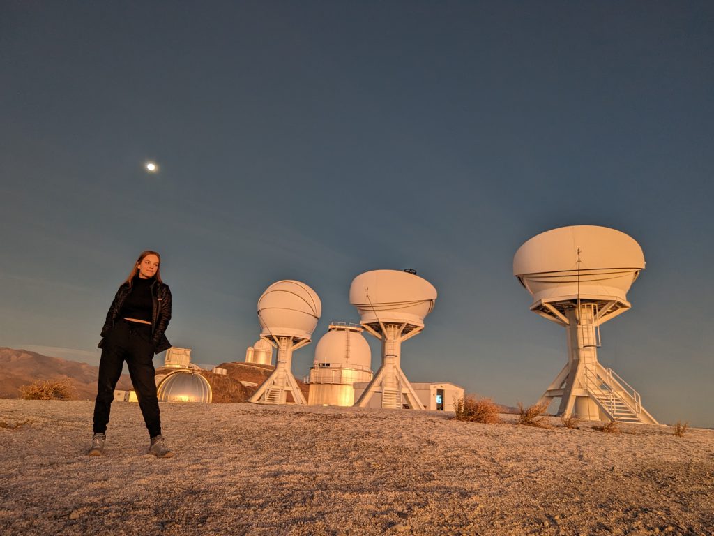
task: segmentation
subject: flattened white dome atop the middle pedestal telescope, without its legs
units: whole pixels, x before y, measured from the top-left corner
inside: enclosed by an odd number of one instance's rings
[[[436,288],[416,274],[373,270],[358,275],[350,286],[350,303],[363,324],[397,322],[423,327],[434,308]]]

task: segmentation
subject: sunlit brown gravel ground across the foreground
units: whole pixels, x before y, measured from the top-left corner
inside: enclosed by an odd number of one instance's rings
[[[714,430],[605,434],[448,413],[0,400],[1,535],[713,535]]]

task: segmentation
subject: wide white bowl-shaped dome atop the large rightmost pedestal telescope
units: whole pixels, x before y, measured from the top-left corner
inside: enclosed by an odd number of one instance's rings
[[[630,286],[644,267],[642,248],[632,237],[595,225],[538,234],[513,257],[513,275],[535,302],[578,296],[626,302]]]

